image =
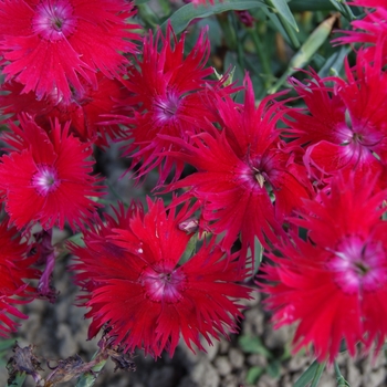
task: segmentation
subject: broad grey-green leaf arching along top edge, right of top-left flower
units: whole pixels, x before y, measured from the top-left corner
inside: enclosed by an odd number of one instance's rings
[[[260,0],[223,0],[222,2],[217,0],[215,6],[208,7],[189,3],[178,9],[168,20],[177,34],[182,32],[194,19],[203,19],[226,11],[243,11],[259,7],[265,7],[265,4]],[[164,32],[167,30],[168,20],[161,25]]]

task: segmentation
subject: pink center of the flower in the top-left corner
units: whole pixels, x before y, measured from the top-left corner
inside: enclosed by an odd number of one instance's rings
[[[76,28],[76,19],[69,1],[44,0],[39,3],[35,12],[32,29],[45,40],[61,40],[72,34]]]

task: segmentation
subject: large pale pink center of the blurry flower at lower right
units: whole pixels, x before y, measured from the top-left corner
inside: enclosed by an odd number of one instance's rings
[[[345,293],[372,292],[387,280],[386,252],[379,242],[348,237],[334,251],[328,269]]]

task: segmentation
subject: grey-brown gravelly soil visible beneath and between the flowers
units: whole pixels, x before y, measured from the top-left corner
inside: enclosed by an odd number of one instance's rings
[[[100,172],[109,176],[109,185],[125,200],[144,198],[155,186],[155,176],[140,187],[134,189],[133,182],[126,176],[119,178],[127,168],[118,159],[118,148],[112,147],[107,154],[98,155]],[[109,198],[114,200],[114,195]],[[63,236],[59,236],[63,238]],[[86,341],[88,321],[84,320],[85,310],[75,306],[77,289],[72,284],[71,274],[66,265],[71,258],[59,262],[54,272],[54,284],[60,291],[55,304],[34,301],[24,305],[23,310],[29,320],[23,322],[19,333],[14,336],[21,346],[33,344],[36,356],[54,360],[79,354],[84,360],[91,359],[97,348],[97,339]],[[215,342],[208,347],[207,354],[194,355],[181,343],[172,359],[167,355],[155,362],[145,358],[138,352],[134,358],[136,372],[116,372],[109,363],[100,375],[95,386],[100,387],[287,387],[313,362],[306,354],[290,357],[293,330],[282,328],[273,331],[270,316],[262,311],[260,295],[249,302],[241,322],[240,335],[231,335],[230,341]],[[257,344],[257,343],[258,344]],[[255,344],[257,345],[255,345]],[[260,348],[259,351],[257,348]],[[10,353],[11,354],[11,353]],[[11,356],[9,354],[9,356]],[[354,362],[346,355],[339,358],[344,377],[352,387],[387,386],[386,356],[380,354],[374,362],[369,358]],[[44,363],[45,370],[48,367]],[[253,384],[252,374],[261,372],[261,376]],[[32,378],[24,384],[34,386]],[[6,386],[7,372],[0,369],[0,385]],[[74,381],[61,386],[74,386]],[[321,379],[321,387],[336,386],[334,370],[326,369]]]

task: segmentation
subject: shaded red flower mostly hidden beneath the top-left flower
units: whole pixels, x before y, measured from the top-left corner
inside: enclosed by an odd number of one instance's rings
[[[22,93],[23,85],[17,82],[4,83],[1,91],[9,92],[0,95],[0,106],[3,114],[28,113],[35,117],[39,126],[51,128],[51,121],[57,118],[61,124],[71,121],[71,130],[83,142],[94,142],[98,146],[107,146],[108,138],[114,139],[124,135],[119,125],[103,125],[106,118],[102,115],[112,114],[118,100],[124,100],[127,93],[122,82],[109,80],[101,72],[96,74],[98,87],[82,82],[84,92],[74,91],[70,102],[57,101],[56,94],[49,94],[43,100],[36,100],[33,92]],[[117,113],[122,112],[119,109]],[[124,112],[122,112],[124,113]]]

